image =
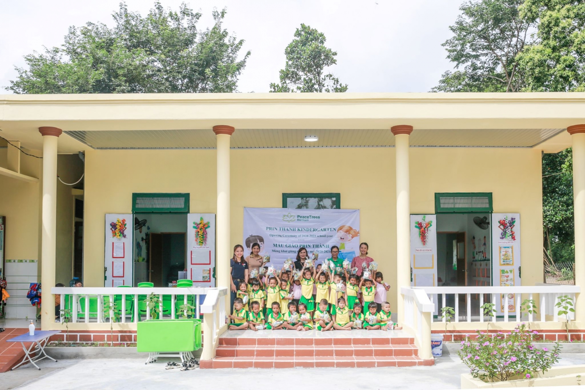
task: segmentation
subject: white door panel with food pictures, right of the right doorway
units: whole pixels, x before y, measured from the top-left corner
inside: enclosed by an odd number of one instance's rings
[[[491,215],[494,286],[520,286],[520,215],[518,213],[493,213]],[[505,310],[505,294],[500,294],[495,309],[497,315]],[[516,310],[514,294],[508,294],[508,312]]]

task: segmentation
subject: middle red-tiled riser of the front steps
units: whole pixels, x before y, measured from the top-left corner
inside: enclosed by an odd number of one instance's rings
[[[417,356],[413,344],[384,346],[218,346],[216,357],[368,357]]]

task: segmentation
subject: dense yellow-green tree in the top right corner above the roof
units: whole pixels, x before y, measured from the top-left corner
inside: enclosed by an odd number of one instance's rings
[[[518,58],[527,91],[585,91],[585,2],[525,0],[522,16],[538,22],[536,42]]]

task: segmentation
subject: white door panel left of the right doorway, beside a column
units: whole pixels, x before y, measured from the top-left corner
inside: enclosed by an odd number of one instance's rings
[[[437,285],[437,233],[434,214],[410,216],[410,267],[411,286]]]

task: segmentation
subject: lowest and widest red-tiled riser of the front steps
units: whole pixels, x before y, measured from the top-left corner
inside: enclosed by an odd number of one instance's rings
[[[417,356],[400,357],[220,357],[202,360],[199,368],[293,368],[293,367],[409,367],[433,365],[434,359]]]

